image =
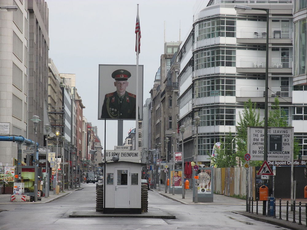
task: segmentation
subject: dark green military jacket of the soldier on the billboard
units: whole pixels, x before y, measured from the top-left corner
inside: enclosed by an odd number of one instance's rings
[[[119,101],[116,91],[106,94],[103,101],[101,118],[135,119],[136,95],[126,91],[123,101]]]

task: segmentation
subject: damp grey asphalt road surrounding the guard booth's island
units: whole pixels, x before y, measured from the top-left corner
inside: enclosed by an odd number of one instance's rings
[[[132,229],[286,229],[266,224],[231,211],[244,211],[244,205],[186,205],[149,191],[149,209],[158,208],[172,213],[175,220],[146,218],[69,218],[76,211],[95,211],[95,184],[83,184],[82,190],[44,204],[2,205],[0,229],[73,229],[73,230],[132,230]]]

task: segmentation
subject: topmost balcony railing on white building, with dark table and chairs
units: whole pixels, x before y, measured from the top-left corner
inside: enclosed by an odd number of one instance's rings
[[[292,29],[273,28],[270,35],[269,38],[292,39]],[[266,38],[266,28],[242,29],[238,38]]]

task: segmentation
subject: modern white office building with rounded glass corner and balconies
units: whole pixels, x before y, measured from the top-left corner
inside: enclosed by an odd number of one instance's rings
[[[268,9],[269,33],[266,34],[266,11],[239,12],[235,4]],[[286,111],[288,123],[294,126],[295,136],[302,143],[307,133],[304,125],[294,121],[296,115],[302,117],[303,113],[298,110],[300,114],[297,114],[293,105],[304,102],[303,97],[296,97],[292,91],[292,9],[292,1],[210,0],[207,7],[194,15],[192,29],[178,52],[178,126],[185,126],[185,161],[209,165],[213,145],[229,132],[236,134],[239,112],[248,99],[257,104],[263,120],[266,36],[269,38],[269,110],[278,97],[280,109]],[[196,116],[200,117],[197,153],[193,152]],[[181,138],[180,134],[180,142]]]

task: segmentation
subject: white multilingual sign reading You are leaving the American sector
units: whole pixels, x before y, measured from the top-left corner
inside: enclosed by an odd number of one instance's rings
[[[264,158],[264,127],[247,128],[247,152],[251,160]],[[268,160],[291,160],[293,127],[268,127]]]

